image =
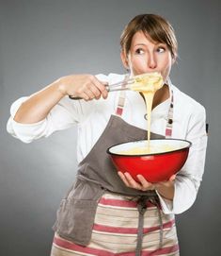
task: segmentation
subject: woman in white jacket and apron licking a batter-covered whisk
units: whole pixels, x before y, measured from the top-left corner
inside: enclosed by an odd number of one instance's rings
[[[123,65],[131,76],[159,72],[164,78],[153,98],[151,137],[172,136],[193,145],[176,177],[151,184],[138,176],[136,182],[127,173],[113,171],[106,154],[110,145],[146,138],[142,95],[106,91],[105,84],[126,76],[61,77],[18,99],[11,107],[8,132],[25,143],[73,124],[78,128],[78,172],[57,211],[53,256],[179,255],[174,214],[189,209],[197,196],[207,144],[205,110],[168,78],[177,41],[163,17],[134,17],[120,44]],[[82,100],[71,100],[69,95]]]

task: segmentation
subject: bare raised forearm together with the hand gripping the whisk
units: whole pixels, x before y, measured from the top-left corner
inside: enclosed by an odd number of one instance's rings
[[[104,84],[92,75],[70,75],[31,95],[14,116],[18,123],[32,124],[43,120],[65,95],[92,100],[107,97]]]

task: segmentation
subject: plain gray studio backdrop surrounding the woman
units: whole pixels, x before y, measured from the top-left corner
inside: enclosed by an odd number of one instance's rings
[[[206,107],[205,175],[195,205],[177,215],[182,256],[220,255],[220,1],[0,1],[0,255],[49,255],[59,201],[75,175],[76,130],[29,145],[6,131],[10,104],[71,73],[124,72],[119,36],[154,12],[179,44],[172,80]]]

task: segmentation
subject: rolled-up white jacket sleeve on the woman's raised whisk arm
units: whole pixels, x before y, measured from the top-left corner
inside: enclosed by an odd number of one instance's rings
[[[73,102],[69,97],[64,97],[55,105],[45,119],[34,124],[21,124],[13,118],[27,98],[21,97],[11,105],[7,124],[8,133],[24,143],[31,143],[39,138],[48,137],[57,130],[71,128],[71,126],[82,120],[86,111],[89,111],[89,108],[82,106],[81,100]]]

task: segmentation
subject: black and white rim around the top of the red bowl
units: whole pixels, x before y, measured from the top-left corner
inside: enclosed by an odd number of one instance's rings
[[[118,154],[118,153],[110,152],[111,148],[114,146],[117,146],[117,145],[124,145],[124,144],[129,144],[129,143],[138,143],[138,142],[147,141],[147,140],[138,140],[138,141],[131,141],[131,142],[127,142],[127,143],[119,143],[116,145],[111,145],[106,149],[106,153],[108,153],[111,156],[120,156],[120,157],[125,157],[125,158],[146,157],[146,156],[156,156],[156,155],[163,155],[163,154],[165,155],[165,154],[170,154],[170,153],[174,153],[174,152],[184,151],[186,149],[189,149],[193,145],[190,141],[184,140],[184,139],[174,139],[174,138],[150,139],[150,141],[161,141],[161,140],[186,142],[186,143],[188,143],[188,145],[186,145],[180,149],[169,150],[166,152],[146,153],[146,154],[137,154],[137,155],[125,155],[125,154]]]

